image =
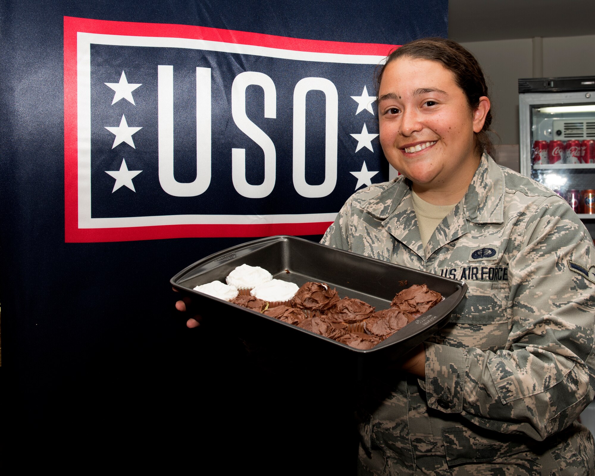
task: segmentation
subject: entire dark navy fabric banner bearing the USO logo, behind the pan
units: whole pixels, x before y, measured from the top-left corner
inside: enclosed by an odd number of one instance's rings
[[[317,454],[354,456],[349,419],[306,425],[281,375],[186,328],[169,280],[256,237],[319,240],[355,190],[389,179],[374,71],[396,45],[445,37],[447,11],[447,0],[0,0],[4,434],[66,459],[91,441],[101,456],[175,441],[193,467],[232,474],[255,465],[227,458],[239,441],[261,462],[310,464],[287,454],[296,446],[278,436],[291,431]]]

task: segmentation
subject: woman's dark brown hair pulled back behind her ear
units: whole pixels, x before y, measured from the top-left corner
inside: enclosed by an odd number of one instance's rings
[[[384,68],[401,57],[437,61],[444,68],[452,71],[456,84],[465,93],[467,104],[471,111],[477,109],[481,96],[489,98],[486,79],[475,57],[459,45],[459,43],[438,37],[414,40],[394,50],[386,58],[386,63],[384,63],[380,72],[377,74],[376,96],[378,96],[378,90],[380,90]],[[493,151],[493,145],[487,133],[490,130],[491,121],[492,114],[490,109],[487,113],[483,129],[475,133],[475,149],[480,153],[486,151],[490,154]]]

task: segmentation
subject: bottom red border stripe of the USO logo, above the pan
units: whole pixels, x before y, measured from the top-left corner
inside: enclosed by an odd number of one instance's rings
[[[131,228],[78,228],[67,233],[66,243],[129,242],[168,238],[245,238],[324,234],[333,223],[269,223],[257,225],[162,225]]]

